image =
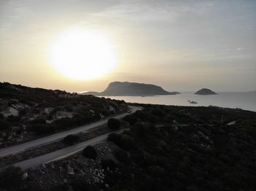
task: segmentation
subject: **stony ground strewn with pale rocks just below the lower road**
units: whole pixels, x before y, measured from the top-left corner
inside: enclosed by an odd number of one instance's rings
[[[61,190],[61,187],[69,187],[68,189],[72,190],[71,183],[80,177],[89,184],[103,184],[108,190],[109,185],[105,184],[105,169],[100,162],[106,158],[115,160],[112,152],[117,147],[107,142],[97,144],[94,148],[97,149],[96,160],[88,159],[79,152],[64,160],[29,169],[20,190]]]

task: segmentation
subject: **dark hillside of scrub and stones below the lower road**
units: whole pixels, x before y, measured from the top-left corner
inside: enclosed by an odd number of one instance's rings
[[[94,159],[78,152],[29,169],[20,184],[5,178],[8,186],[38,191],[256,190],[255,112],[136,105],[143,110],[124,117],[128,130],[94,145]],[[5,176],[0,176],[0,187]]]

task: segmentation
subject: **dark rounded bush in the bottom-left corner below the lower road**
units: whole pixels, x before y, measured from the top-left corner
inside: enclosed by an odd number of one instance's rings
[[[22,183],[24,171],[20,167],[10,166],[1,172],[0,185],[3,190],[18,190]]]

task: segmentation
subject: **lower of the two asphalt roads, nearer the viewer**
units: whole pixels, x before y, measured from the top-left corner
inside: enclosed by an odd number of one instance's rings
[[[121,133],[122,130],[117,130],[110,133]],[[45,155],[41,155],[39,157],[34,157],[29,160],[23,160],[19,163],[15,163],[12,165],[19,166],[20,168],[23,168],[24,170],[41,165],[43,163],[48,163],[53,160],[60,160],[61,158],[68,157],[70,155],[75,154],[75,152],[79,152],[80,150],[84,149],[86,146],[98,144],[99,142],[106,141],[108,138],[108,135],[110,133],[106,133],[102,136],[97,136],[94,139],[90,139],[88,141],[81,142],[80,144],[75,144],[69,147],[65,147],[64,149],[57,150],[55,152],[50,152]]]

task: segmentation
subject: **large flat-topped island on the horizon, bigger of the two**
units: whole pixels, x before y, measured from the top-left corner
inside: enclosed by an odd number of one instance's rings
[[[176,95],[178,92],[168,92],[157,85],[138,82],[111,82],[102,92],[86,92],[83,95],[96,96],[148,96],[148,95]]]

